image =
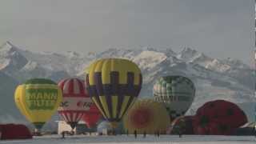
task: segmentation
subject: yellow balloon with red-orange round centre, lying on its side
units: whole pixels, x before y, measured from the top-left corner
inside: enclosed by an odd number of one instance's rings
[[[142,99],[134,103],[123,118],[123,124],[130,134],[165,134],[170,125],[166,107],[152,99]]]

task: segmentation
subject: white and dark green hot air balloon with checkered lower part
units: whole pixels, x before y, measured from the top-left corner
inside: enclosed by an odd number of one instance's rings
[[[186,77],[167,76],[157,80],[153,88],[154,99],[163,102],[170,120],[186,113],[194,100],[194,83]]]

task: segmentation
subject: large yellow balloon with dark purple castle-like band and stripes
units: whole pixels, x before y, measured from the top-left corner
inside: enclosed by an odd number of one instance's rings
[[[88,94],[113,127],[135,102],[141,86],[141,70],[126,59],[98,60],[90,65],[86,74]]]

